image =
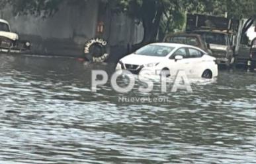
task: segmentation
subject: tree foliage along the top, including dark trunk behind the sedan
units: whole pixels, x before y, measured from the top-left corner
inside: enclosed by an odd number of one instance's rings
[[[1,0],[0,9],[13,7],[14,14],[52,16],[62,3],[86,5],[88,0]],[[155,41],[157,34],[163,38],[166,33],[181,30],[186,13],[212,14],[231,18],[248,18],[256,14],[255,0],[99,0],[108,3],[114,13],[126,13],[142,22],[143,43]]]

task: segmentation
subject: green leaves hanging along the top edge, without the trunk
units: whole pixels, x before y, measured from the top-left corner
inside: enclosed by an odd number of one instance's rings
[[[13,6],[15,14],[35,14],[37,16],[52,16],[58,11],[62,3],[84,5],[88,0],[1,0],[0,9],[6,5]],[[188,13],[214,14],[232,18],[247,18],[256,13],[255,0],[101,0],[101,2],[114,4],[114,10],[128,13],[140,19],[144,13],[145,3],[154,7],[163,7],[163,10],[177,9]],[[148,5],[149,6],[149,5]],[[148,11],[147,11],[148,12]],[[152,11],[153,12],[153,11]]]

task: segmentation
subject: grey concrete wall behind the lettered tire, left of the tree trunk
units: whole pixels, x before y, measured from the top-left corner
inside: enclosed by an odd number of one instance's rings
[[[0,18],[10,22],[11,30],[22,40],[32,42],[33,53],[82,56],[85,41],[95,37],[99,13],[107,13],[105,39],[111,46],[126,48],[128,44],[142,40],[141,24],[136,24],[125,14],[106,11],[99,12],[99,0],[88,0],[83,6],[64,3],[50,18],[13,16],[11,7],[0,11]]]

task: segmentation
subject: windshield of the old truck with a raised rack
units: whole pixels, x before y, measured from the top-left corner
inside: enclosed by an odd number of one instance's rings
[[[214,32],[198,32],[206,43],[228,45],[228,36]]]

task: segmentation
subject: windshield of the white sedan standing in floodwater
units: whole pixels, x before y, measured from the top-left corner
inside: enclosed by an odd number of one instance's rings
[[[135,54],[138,55],[148,55],[148,56],[156,56],[156,57],[166,57],[173,51],[175,47],[168,47],[163,45],[146,45],[142,47]]]

